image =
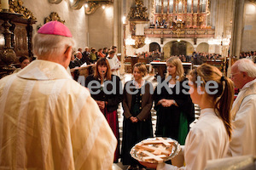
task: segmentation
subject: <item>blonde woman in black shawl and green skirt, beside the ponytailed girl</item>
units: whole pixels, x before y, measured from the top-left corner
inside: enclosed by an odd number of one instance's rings
[[[195,120],[195,109],[185,87],[189,87],[184,76],[183,65],[177,57],[166,61],[167,74],[154,90],[154,109],[157,111],[156,136],[176,139],[184,144],[189,133],[189,124]]]

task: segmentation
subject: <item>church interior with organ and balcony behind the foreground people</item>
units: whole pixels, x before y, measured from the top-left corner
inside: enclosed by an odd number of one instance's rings
[[[207,63],[225,77],[237,59],[256,62],[255,0],[1,0],[0,78],[20,68],[21,56],[36,59],[33,37],[53,20],[71,31],[74,54],[84,56],[88,48],[98,59],[102,49],[115,46],[123,84],[133,78],[133,66],[143,63],[148,70],[144,79],[155,88],[156,77],[166,76],[171,56],[182,60],[185,73]],[[70,66],[73,79],[82,85],[95,67],[93,59],[83,64]],[[195,105],[195,122],[200,112]],[[151,114],[155,130],[154,107]],[[118,118],[122,141],[121,105]],[[114,170],[126,168],[120,161],[113,163]]]

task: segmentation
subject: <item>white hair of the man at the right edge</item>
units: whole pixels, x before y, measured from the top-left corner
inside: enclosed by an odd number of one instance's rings
[[[248,77],[256,77],[256,65],[251,59],[239,59],[236,61],[238,71],[246,72]]]

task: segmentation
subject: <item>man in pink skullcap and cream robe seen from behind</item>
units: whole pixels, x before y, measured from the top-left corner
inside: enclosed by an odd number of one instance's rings
[[[51,21],[38,59],[0,80],[1,169],[112,169],[117,141],[90,92],[67,73],[74,41]]]

